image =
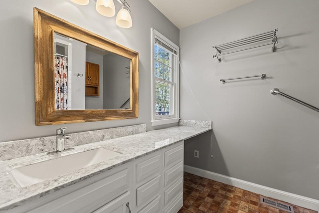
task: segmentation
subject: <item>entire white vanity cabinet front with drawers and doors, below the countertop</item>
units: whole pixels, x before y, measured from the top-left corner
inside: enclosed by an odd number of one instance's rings
[[[9,212],[177,213],[183,205],[183,155],[182,141]]]

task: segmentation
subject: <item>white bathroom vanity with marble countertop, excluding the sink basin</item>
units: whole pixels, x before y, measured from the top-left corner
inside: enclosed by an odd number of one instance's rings
[[[184,140],[209,130],[192,123],[76,146],[63,156],[0,161],[0,212],[176,213],[183,205]],[[12,175],[19,167],[97,149],[120,155],[31,185],[19,185]]]

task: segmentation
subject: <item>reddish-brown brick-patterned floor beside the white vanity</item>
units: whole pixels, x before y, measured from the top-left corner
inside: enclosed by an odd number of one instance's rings
[[[294,207],[295,213],[318,213],[292,204],[289,205]],[[178,213],[287,212],[260,203],[259,194],[184,173],[184,206]]]

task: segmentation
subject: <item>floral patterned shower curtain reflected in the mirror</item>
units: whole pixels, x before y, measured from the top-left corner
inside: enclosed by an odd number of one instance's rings
[[[66,57],[55,56],[55,109],[68,109],[68,65]]]

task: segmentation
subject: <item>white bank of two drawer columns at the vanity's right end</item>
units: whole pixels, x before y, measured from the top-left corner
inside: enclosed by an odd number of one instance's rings
[[[184,143],[179,142],[137,159],[137,213],[177,213],[183,206]]]

